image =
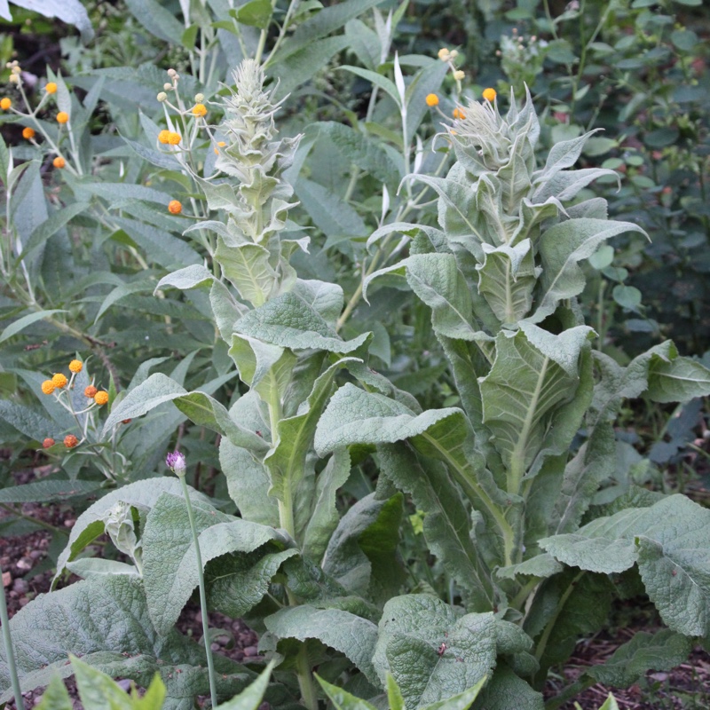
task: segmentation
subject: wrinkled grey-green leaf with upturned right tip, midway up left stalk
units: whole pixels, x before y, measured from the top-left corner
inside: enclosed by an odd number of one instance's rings
[[[291,350],[317,348],[339,353],[357,350],[370,337],[364,333],[343,341],[319,312],[293,293],[276,296],[261,308],[248,312],[237,322],[236,330]]]

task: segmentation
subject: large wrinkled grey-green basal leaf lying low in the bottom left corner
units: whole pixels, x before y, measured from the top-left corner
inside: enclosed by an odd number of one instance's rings
[[[51,675],[70,675],[67,654],[112,676],[131,678],[147,687],[160,673],[167,686],[168,707],[188,710],[195,695],[209,693],[204,649],[171,631],[155,630],[140,580],[126,575],[75,582],[38,596],[11,621],[12,642],[24,691],[46,685]],[[218,690],[230,697],[255,675],[217,655]],[[177,673],[181,669],[182,675]],[[0,651],[0,685],[10,676]],[[0,702],[12,697],[6,690]]]

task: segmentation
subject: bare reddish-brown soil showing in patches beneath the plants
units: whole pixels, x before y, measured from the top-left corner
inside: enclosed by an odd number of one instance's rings
[[[34,478],[31,474],[16,477],[18,483],[28,483]],[[23,516],[42,521],[60,529],[71,529],[75,523],[75,511],[67,503],[37,505],[26,503],[14,509]],[[7,508],[0,509],[0,520],[9,515]],[[52,531],[39,530],[25,535],[0,538],[0,564],[3,569],[3,584],[7,596],[8,613],[12,617],[25,604],[38,594],[49,591],[52,569],[48,566],[47,551]],[[42,571],[43,570],[43,571]],[[580,642],[572,659],[560,670],[559,675],[551,678],[545,690],[547,698],[553,697],[562,688],[574,682],[586,667],[603,663],[622,643],[636,631],[655,631],[658,619],[651,614],[641,614],[628,618],[628,626],[619,628],[616,633],[603,633]],[[210,613],[209,626],[225,631],[212,643],[213,651],[221,653],[238,662],[257,660],[257,636],[241,619],[229,619],[222,614]],[[187,604],[177,627],[185,635],[200,638],[202,635],[201,612],[199,605]],[[129,683],[126,682],[128,688]],[[75,684],[67,681],[67,688],[74,699],[75,710],[81,710]],[[608,697],[611,689],[603,685],[594,685],[582,692],[577,698],[561,706],[560,710],[575,710],[579,703],[581,710],[597,710]],[[650,672],[645,684],[633,685],[625,690],[613,690],[620,710],[710,710],[710,654],[699,647],[692,652],[681,666],[670,672]],[[41,698],[42,689],[24,694],[25,706],[36,706]],[[684,700],[683,700],[684,698]],[[692,704],[689,704],[691,702]],[[14,703],[8,708],[15,710]],[[264,704],[262,710],[266,710]],[[510,708],[514,710],[514,708]]]

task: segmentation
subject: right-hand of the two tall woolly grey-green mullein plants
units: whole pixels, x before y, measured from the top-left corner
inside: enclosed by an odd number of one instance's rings
[[[615,594],[645,591],[668,629],[636,635],[548,701],[556,707],[594,682],[634,682],[651,649],[651,665],[669,668],[698,638],[710,642],[710,512],[635,485],[618,470],[613,428],[626,398],[706,395],[710,373],[678,357],[671,342],[627,367],[592,349],[596,334],[578,301],[583,262],[611,237],[642,232],[609,220],[606,201],[582,193],[613,174],[572,169],[592,133],[553,146],[539,166],[529,94],[523,106],[511,95],[505,115],[485,99],[457,116],[442,136],[454,149],[452,169],[412,177],[438,193],[440,228],[400,223],[375,232],[370,245],[392,230],[413,241],[410,256],[367,279],[365,293],[378,279],[399,280],[430,306],[461,408],[420,413],[345,384],[319,421],[315,446],[321,456],[377,446],[380,484],[412,496],[431,551],[475,612],[461,617],[460,608],[421,595],[385,604],[375,666],[381,680],[390,672],[400,683],[422,681],[407,687],[407,707],[429,699],[424,679],[440,678],[437,692],[461,689],[461,662],[485,646],[471,634],[492,616],[520,635],[515,652],[499,658],[484,705],[509,707],[504,698],[515,693],[517,707],[541,707],[536,689],[548,668],[604,624]],[[404,648],[420,651],[415,671],[401,662]]]

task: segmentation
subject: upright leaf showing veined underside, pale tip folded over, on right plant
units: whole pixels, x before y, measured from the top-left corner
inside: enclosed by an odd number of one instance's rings
[[[580,353],[593,332],[579,326],[553,335],[523,323],[515,335],[496,337],[493,368],[478,382],[483,421],[509,469],[527,469],[544,446],[550,415],[575,395]],[[512,477],[510,493],[518,493],[520,480]]]

